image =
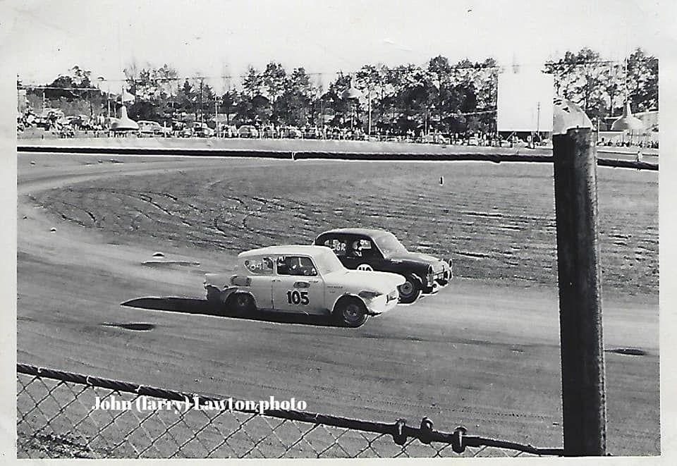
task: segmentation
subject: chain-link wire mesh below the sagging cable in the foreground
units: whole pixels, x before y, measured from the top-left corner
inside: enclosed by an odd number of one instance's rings
[[[463,427],[438,431],[427,418],[412,427],[403,419],[386,424],[300,411],[206,410],[227,398],[195,398],[193,393],[28,364],[17,364],[16,369],[18,458],[564,455],[560,448],[472,436]],[[96,397],[99,403],[129,403],[131,408],[95,410]],[[181,403],[172,408],[169,402]]]

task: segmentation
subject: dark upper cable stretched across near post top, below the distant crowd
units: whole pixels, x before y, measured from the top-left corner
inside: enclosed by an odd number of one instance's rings
[[[552,163],[550,154],[499,154],[493,152],[468,152],[447,154],[444,152],[333,152],[333,151],[291,151],[268,149],[192,149],[187,147],[83,147],[18,145],[17,152],[47,152],[61,154],[106,154],[106,155],[148,155],[148,156],[192,156],[192,157],[247,157],[258,159],[328,159],[362,161],[489,161],[501,162],[544,162]],[[633,154],[627,154],[633,157]],[[654,158],[654,157],[652,157]],[[658,170],[658,162],[597,158],[599,166],[615,168],[636,168]]]

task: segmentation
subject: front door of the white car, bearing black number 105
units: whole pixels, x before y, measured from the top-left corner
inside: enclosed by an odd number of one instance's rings
[[[273,278],[273,308],[278,311],[325,314],[324,281],[310,257],[280,256]]]

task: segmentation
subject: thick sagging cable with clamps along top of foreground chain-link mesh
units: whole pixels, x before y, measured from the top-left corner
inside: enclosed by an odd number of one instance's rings
[[[214,396],[204,396],[200,393],[187,393],[181,391],[167,390],[152,386],[143,386],[131,384],[125,381],[113,379],[104,379],[102,377],[88,376],[85,374],[76,374],[73,372],[60,371],[45,367],[37,367],[31,364],[16,364],[18,374],[33,376],[41,379],[53,379],[56,381],[79,384],[90,387],[105,388],[111,391],[133,393],[137,396],[152,396],[166,400],[183,401],[185,403],[198,403],[206,405],[207,403],[218,402],[232,397],[216,398]],[[234,398],[233,398],[234,399]],[[465,448],[470,447],[494,447],[516,450],[520,453],[532,455],[563,456],[563,448],[537,448],[532,445],[515,443],[510,441],[501,441],[496,439],[487,439],[481,436],[466,435],[467,429],[459,426],[453,432],[444,432],[434,429],[433,423],[427,417],[421,421],[420,427],[408,426],[405,419],[397,419],[394,423],[372,422],[361,419],[350,419],[333,415],[322,415],[314,412],[303,412],[294,410],[248,410],[236,409],[232,411],[248,414],[262,414],[267,417],[276,417],[279,419],[288,419],[291,421],[307,422],[309,424],[323,424],[331,427],[340,427],[344,429],[353,429],[372,432],[375,434],[389,434],[398,445],[404,445],[408,438],[415,438],[421,443],[448,443],[456,453],[463,453]]]

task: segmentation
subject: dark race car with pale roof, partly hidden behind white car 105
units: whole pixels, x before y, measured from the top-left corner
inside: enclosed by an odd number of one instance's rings
[[[347,269],[376,270],[400,274],[400,302],[415,302],[422,293],[436,293],[449,284],[453,273],[448,262],[426,254],[409,252],[388,231],[366,228],[337,228],[325,231],[315,245],[331,247]]]

